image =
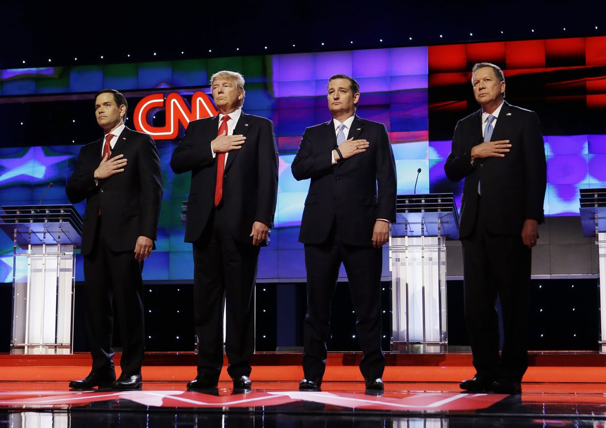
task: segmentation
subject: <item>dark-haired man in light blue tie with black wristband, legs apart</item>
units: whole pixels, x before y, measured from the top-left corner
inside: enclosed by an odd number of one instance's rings
[[[359,85],[345,74],[328,81],[333,119],[305,130],[293,176],[311,179],[299,241],[305,244],[307,315],[301,390],[319,390],[330,334],[330,303],[341,263],[347,271],[368,390],[383,390],[382,246],[396,219],[396,166],[387,129],[356,116]]]

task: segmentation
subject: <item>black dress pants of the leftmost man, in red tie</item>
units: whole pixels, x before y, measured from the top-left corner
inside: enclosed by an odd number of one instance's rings
[[[112,336],[116,314],[122,341],[120,366],[123,374],[132,376],[141,374],[145,349],[143,264],[135,259],[133,251],[112,251],[112,237],[112,229],[99,216],[92,252],[84,256],[85,318],[92,372],[114,371]]]

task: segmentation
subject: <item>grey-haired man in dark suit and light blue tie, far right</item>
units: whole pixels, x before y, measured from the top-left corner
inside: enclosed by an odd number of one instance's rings
[[[465,179],[459,239],[476,375],[462,381],[461,389],[519,393],[528,367],[531,248],[544,220],[545,148],[536,113],[505,102],[501,68],[476,64],[471,83],[482,108],[457,123],[444,166],[451,181]],[[497,296],[504,335],[500,357]]]

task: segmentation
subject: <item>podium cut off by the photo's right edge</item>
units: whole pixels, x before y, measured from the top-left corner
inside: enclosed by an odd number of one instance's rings
[[[606,188],[579,189],[581,225],[585,237],[596,237],[600,269],[600,340],[601,354],[606,354]]]

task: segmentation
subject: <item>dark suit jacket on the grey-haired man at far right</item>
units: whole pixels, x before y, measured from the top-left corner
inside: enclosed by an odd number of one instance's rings
[[[482,109],[459,120],[454,128],[452,151],[444,165],[448,179],[465,179],[459,239],[473,231],[478,181],[487,218],[491,219],[487,225],[491,233],[518,235],[524,220],[544,221],[547,166],[539,117],[534,111],[504,102],[491,140],[510,140],[509,153],[505,157],[476,159],[472,165],[471,148],[484,140],[481,117]]]

